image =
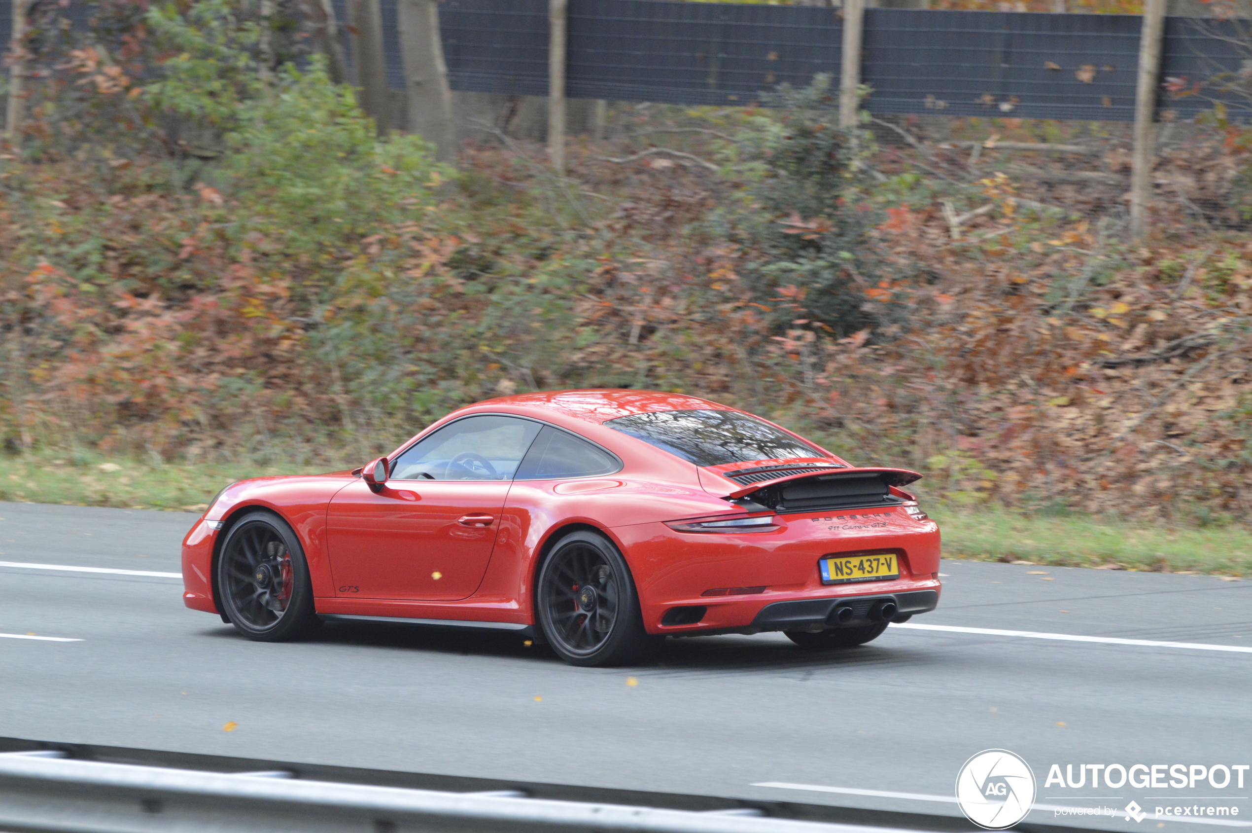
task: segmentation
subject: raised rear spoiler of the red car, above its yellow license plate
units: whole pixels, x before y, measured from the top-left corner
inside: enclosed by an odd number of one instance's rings
[[[889,502],[891,486],[908,486],[921,475],[908,468],[839,468],[789,475],[732,491],[726,500],[762,507],[839,509]]]

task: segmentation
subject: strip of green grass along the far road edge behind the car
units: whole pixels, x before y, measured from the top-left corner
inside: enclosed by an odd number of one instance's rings
[[[344,463],[341,467],[347,467]],[[0,501],[199,512],[245,477],[331,471],[313,463],[153,463],[90,451],[0,456]],[[926,506],[943,530],[944,556],[1054,566],[1252,574],[1252,532],[1238,525],[1188,527],[1094,516],[1023,515]]]

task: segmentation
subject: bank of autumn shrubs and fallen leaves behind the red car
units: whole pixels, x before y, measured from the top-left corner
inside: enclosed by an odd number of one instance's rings
[[[75,60],[100,118],[156,106],[129,91],[141,74]],[[49,111],[0,159],[9,452],[359,463],[500,393],[646,387],[918,468],[955,502],[1252,516],[1237,223],[1129,246],[1114,213],[840,134],[819,86],[719,115],[687,157],[578,143],[561,180],[490,137],[459,170],[377,139],[316,65],[244,86],[229,124],[199,123],[207,159],[170,152],[155,110],[125,154],[40,143],[68,130]],[[1223,182],[1246,162],[1206,153]]]

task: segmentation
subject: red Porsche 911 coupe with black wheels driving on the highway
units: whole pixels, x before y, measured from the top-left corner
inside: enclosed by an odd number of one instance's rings
[[[939,603],[919,477],[691,396],[508,396],[356,471],[228,486],[183,542],[183,599],[257,640],[495,628],[576,665],[670,634],[846,648]]]

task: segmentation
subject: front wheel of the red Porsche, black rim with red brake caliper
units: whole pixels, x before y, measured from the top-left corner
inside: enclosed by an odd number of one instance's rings
[[[230,526],[217,564],[222,616],[260,643],[316,631],[313,585],[299,539],[269,512],[249,512]]]

